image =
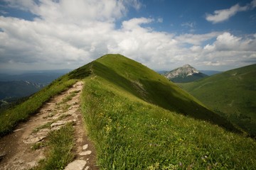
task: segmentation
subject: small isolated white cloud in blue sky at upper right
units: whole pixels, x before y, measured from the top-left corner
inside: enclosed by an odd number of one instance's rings
[[[206,14],[206,20],[212,23],[220,23],[228,20],[231,16],[234,16],[240,11],[247,11],[249,8],[249,5],[240,6],[239,4],[236,4],[228,9],[216,10],[214,11],[214,14]]]

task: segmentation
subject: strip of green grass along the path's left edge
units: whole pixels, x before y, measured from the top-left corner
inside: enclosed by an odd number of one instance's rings
[[[73,70],[73,72],[65,74],[59,79],[56,79],[41,91],[33,94],[33,96],[29,97],[28,100],[23,101],[23,103],[0,113],[0,137],[14,130],[18,123],[28,120],[28,118],[36,113],[44,103],[50,100],[50,98],[68,89],[70,86],[75,84],[78,79],[84,79],[90,74],[91,71],[89,63],[83,67]],[[75,95],[75,93],[77,92],[75,91],[74,94],[71,95]]]

